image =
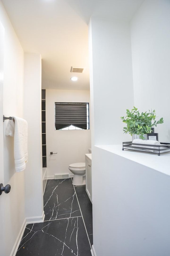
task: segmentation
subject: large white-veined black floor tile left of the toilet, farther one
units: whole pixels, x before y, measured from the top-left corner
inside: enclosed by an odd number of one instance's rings
[[[81,216],[71,179],[47,181],[44,193],[45,220]]]

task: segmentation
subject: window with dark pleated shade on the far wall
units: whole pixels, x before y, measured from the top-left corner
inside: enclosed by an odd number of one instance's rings
[[[56,130],[88,130],[89,103],[55,102]]]

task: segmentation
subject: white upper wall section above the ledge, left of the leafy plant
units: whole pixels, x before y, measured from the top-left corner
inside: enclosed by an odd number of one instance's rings
[[[89,26],[94,144],[120,144],[131,138],[123,135],[124,124],[120,117],[134,104],[130,25],[92,17]]]

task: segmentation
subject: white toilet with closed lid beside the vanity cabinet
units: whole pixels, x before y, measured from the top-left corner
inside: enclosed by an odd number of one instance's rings
[[[86,164],[85,163],[71,163],[69,170],[74,174],[72,184],[74,186],[86,185]]]

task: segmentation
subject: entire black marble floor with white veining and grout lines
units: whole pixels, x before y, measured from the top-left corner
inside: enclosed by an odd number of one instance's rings
[[[92,205],[85,186],[74,188],[71,179],[48,180],[44,211],[44,223],[26,226],[16,256],[91,256]]]

